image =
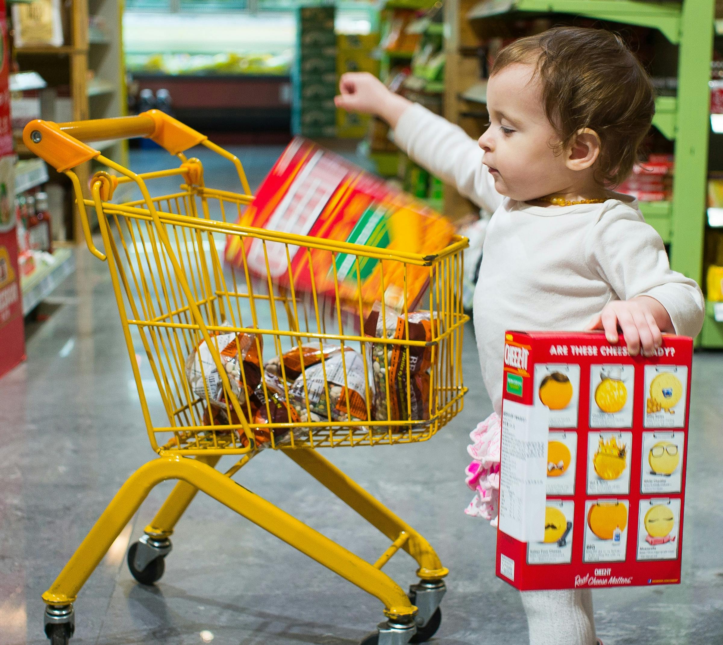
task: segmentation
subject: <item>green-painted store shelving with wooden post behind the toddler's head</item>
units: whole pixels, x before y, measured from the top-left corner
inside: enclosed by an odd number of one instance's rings
[[[664,38],[661,51],[677,69],[677,97],[656,100],[653,125],[675,147],[672,201],[643,202],[646,221],[669,244],[672,268],[703,281],[703,233],[709,145],[709,87],[714,0],[445,0],[447,76],[445,116],[479,137],[486,119],[484,79],[478,57],[480,34],[506,35],[521,18],[586,17],[649,27]],[[667,41],[667,44],[665,43]],[[670,52],[670,54],[668,54]],[[675,73],[675,72],[674,72]],[[468,202],[448,190],[445,213],[455,216]],[[723,324],[708,306],[703,346],[723,347]]]

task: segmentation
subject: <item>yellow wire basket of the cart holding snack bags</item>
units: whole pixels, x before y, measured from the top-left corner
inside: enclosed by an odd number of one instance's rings
[[[81,128],[89,123],[61,132],[87,139]],[[162,123],[168,137],[173,122]],[[53,134],[41,134],[38,153]],[[201,143],[237,162],[205,138]],[[68,173],[84,226],[85,208],[98,217],[154,450],[196,455],[411,443],[429,439],[460,411],[465,239],[422,256],[240,226],[235,222],[252,200],[240,163],[244,192],[228,192],[205,187],[200,161],[176,154],[176,168],[144,174],[98,155],[117,176],[96,173],[90,200],[81,199],[80,183]],[[178,191],[152,197],[153,180],[170,176],[179,177]],[[111,202],[118,185],[129,183],[142,197]],[[90,249],[102,255],[85,230]],[[223,254],[234,236],[246,242],[238,266]],[[251,241],[256,266],[246,251]],[[307,255],[312,275],[304,292],[296,291],[291,273],[297,252]],[[348,267],[343,280],[340,255]],[[286,286],[268,277],[270,260],[278,264],[279,257]],[[369,260],[380,266],[376,292],[361,289]],[[322,288],[313,276],[326,268]],[[393,278],[399,292],[390,305]],[[408,285],[419,283],[426,285],[422,293],[410,293]],[[378,322],[369,333],[372,318]],[[147,406],[149,379],[137,354],[147,356],[166,419],[154,419]]]

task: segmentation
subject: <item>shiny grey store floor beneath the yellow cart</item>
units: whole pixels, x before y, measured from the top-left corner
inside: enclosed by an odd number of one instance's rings
[[[281,148],[240,148],[252,184]],[[134,153],[134,169],[158,168]],[[208,184],[231,188],[228,169]],[[227,182],[227,183],[225,183]],[[30,325],[27,362],[0,380],[0,644],[43,644],[40,594],[135,469],[147,443],[108,270],[85,249],[77,272]],[[463,515],[468,433],[489,414],[471,330],[463,413],[419,445],[326,451],[326,456],[429,539],[450,568],[438,645],[527,642],[520,595],[495,578],[495,531]],[[605,645],[723,643],[723,360],[693,368],[683,584],[594,591]],[[283,454],[254,459],[237,481],[364,558],[388,542]],[[75,604],[76,645],[354,645],[382,619],[376,599],[208,497],[198,497],[173,537],[157,586],[135,584],[129,542],[168,494],[162,484],[111,547]],[[414,562],[388,571],[404,587]],[[564,644],[561,644],[564,645]]]

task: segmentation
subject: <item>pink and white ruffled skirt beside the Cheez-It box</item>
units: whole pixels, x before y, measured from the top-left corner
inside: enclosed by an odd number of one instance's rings
[[[492,526],[497,526],[500,508],[501,435],[500,417],[493,412],[469,433],[472,443],[467,446],[472,461],[465,469],[465,482],[475,495],[464,512],[490,520]]]

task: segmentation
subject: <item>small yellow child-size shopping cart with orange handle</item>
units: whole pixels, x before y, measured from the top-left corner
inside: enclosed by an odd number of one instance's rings
[[[175,155],[177,165],[135,174],[88,145],[140,136]],[[166,479],[178,483],[128,552],[130,571],[141,584],[163,575],[174,526],[202,490],[377,597],[386,620],[364,644],[431,638],[440,625],[448,570],[422,535],[316,449],[424,441],[462,409],[466,239],[455,237],[423,257],[241,226],[234,222],[252,195],[239,160],[158,111],[67,124],[32,121],[24,141],[72,181],[85,242],[108,263],[148,437],[158,453],[123,484],[43,594],[52,644],[67,644],[78,591],[150,490]],[[242,192],[205,187],[202,164],[184,155],[195,145],[233,163]],[[93,175],[86,199],[73,168],[93,159],[107,170]],[[168,177],[179,178],[179,189],[152,196],[153,180]],[[137,189],[140,198],[114,203],[121,184]],[[102,251],[93,243],[89,209],[98,217]],[[236,266],[223,260],[229,236],[244,242]],[[297,293],[291,273],[288,281],[272,281],[268,271],[249,262],[244,249],[250,242],[266,269],[270,254],[278,260],[278,254],[288,259],[291,252],[306,253],[310,266],[328,267],[332,296],[316,289],[313,279],[310,290]],[[342,253],[350,269],[340,291],[335,257]],[[381,270],[379,293],[362,297],[361,289],[348,289],[348,281],[361,285],[360,266],[372,260]],[[420,274],[427,286],[413,314],[408,278]],[[385,300],[390,275],[403,276],[401,307],[394,311]],[[369,331],[372,315],[381,322]],[[410,332],[415,315],[425,322],[424,337]],[[142,366],[137,354],[147,356]],[[424,372],[414,372],[420,357]],[[149,379],[155,380],[158,393],[153,394],[160,394],[162,406],[147,403]],[[367,563],[236,485],[234,474],[262,448],[283,450],[385,534],[390,547]],[[225,472],[216,470],[225,455],[238,461]],[[419,582],[408,593],[382,572],[400,549],[419,565]]]

